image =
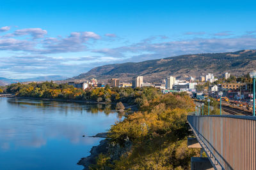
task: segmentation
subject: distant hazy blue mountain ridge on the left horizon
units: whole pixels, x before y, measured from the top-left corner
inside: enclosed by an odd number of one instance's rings
[[[36,78],[26,78],[26,79],[9,79],[0,77],[0,86],[8,85],[11,83],[17,82],[26,82],[26,81],[56,81],[56,80],[65,80],[67,77],[55,75],[55,76],[39,76]]]

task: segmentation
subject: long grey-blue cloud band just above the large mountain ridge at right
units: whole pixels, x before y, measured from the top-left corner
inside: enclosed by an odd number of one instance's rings
[[[195,38],[161,43],[141,41],[133,45],[104,48],[93,52],[105,56],[123,57],[125,60],[141,61],[189,53],[232,52],[254,48],[256,48],[255,36],[240,36],[236,38]]]

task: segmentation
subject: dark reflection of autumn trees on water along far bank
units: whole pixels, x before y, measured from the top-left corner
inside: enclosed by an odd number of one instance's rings
[[[8,99],[9,104],[18,106],[36,106],[36,108],[49,108],[49,110],[58,110],[59,112],[64,112],[68,114],[69,111],[83,111],[92,114],[98,114],[99,112],[109,115],[111,113],[116,113],[115,105],[113,104],[88,104],[88,103],[72,103],[63,101],[43,101],[43,100],[33,100],[33,99]],[[118,117],[120,118],[118,113]]]

